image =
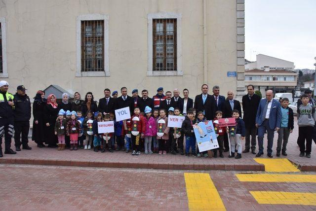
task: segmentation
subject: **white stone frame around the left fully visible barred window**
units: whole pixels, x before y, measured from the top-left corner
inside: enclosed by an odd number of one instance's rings
[[[104,21],[104,71],[81,71],[81,21]],[[76,77],[89,76],[110,76],[109,70],[109,15],[107,14],[85,14],[77,16],[77,61],[76,61]]]

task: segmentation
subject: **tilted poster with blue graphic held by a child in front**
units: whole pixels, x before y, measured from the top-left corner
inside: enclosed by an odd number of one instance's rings
[[[197,138],[197,147],[200,152],[219,147],[212,121],[200,122],[194,125],[193,128]]]

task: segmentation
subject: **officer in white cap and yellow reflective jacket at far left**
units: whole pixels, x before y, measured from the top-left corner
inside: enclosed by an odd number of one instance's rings
[[[11,138],[13,133],[13,108],[14,96],[7,92],[9,88],[8,82],[0,81],[0,157],[2,155],[2,136],[4,135],[5,150],[4,154],[16,154],[11,149]]]

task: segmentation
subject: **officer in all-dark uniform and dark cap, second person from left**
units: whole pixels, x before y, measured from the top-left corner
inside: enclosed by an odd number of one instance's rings
[[[29,96],[25,94],[25,90],[27,89],[23,85],[20,85],[16,88],[16,94],[14,95],[14,142],[16,151],[21,151],[21,141],[22,149],[32,149],[28,145],[31,102]],[[21,133],[22,140],[20,141]]]

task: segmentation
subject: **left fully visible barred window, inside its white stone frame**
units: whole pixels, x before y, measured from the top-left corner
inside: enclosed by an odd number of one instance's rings
[[[81,71],[104,71],[104,21],[81,21]]]

